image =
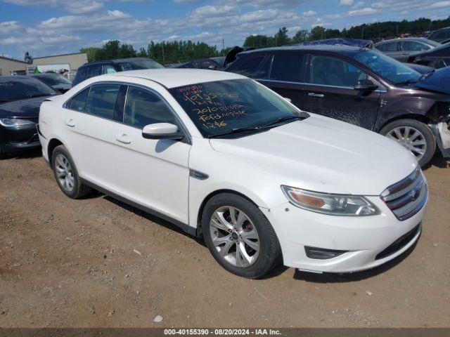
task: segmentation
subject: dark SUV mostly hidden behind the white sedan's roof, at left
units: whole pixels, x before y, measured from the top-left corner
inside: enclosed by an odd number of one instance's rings
[[[164,68],[164,65],[160,65],[160,63],[151,60],[150,58],[121,58],[117,60],[85,63],[78,68],[75,79],[72,81],[72,85],[76,86],[85,79],[102,74],[110,74],[112,72],[158,68]]]

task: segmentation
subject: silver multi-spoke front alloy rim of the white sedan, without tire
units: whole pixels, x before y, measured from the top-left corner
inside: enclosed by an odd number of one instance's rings
[[[236,267],[249,267],[259,256],[259,235],[240,209],[221,206],[210,219],[210,235],[219,256]]]

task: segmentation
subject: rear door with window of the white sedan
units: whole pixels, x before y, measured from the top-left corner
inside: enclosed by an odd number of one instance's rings
[[[65,104],[67,147],[79,175],[117,192],[113,158],[113,128],[120,84],[94,84]],[[122,98],[123,99],[123,98]]]

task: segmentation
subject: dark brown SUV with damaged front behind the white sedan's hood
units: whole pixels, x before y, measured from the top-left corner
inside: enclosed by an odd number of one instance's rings
[[[378,51],[288,46],[238,54],[226,68],[256,79],[307,112],[368,128],[430,161],[450,157],[450,70],[419,74]]]

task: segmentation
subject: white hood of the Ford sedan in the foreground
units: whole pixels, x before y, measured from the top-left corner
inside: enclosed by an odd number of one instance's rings
[[[270,171],[282,185],[328,193],[379,195],[418,165],[394,140],[316,114],[252,136],[214,138],[210,144],[238,157],[237,163],[252,165],[255,174]]]

